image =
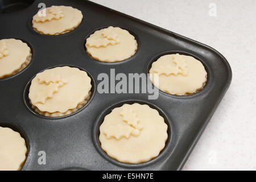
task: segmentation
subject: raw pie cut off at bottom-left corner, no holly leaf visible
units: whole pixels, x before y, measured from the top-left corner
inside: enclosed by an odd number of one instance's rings
[[[0,171],[18,171],[26,159],[27,147],[20,134],[0,126]]]

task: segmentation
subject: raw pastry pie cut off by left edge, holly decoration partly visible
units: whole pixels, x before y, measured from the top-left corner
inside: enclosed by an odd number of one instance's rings
[[[31,61],[31,49],[16,39],[0,40],[0,78],[5,78],[26,68]]]

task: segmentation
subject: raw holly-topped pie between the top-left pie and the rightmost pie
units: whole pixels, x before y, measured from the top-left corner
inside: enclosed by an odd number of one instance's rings
[[[117,62],[128,59],[137,51],[137,41],[127,30],[108,27],[95,31],[86,39],[87,52],[104,62]]]

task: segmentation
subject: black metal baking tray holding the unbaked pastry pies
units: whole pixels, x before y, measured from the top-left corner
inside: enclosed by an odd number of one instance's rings
[[[183,167],[232,80],[232,71],[224,56],[195,40],[90,1],[24,1],[26,6],[22,7],[15,1],[0,2],[0,39],[21,39],[32,50],[32,61],[27,68],[0,79],[0,126],[19,131],[28,147],[22,170],[179,170]],[[67,34],[41,35],[31,27],[32,16],[41,2],[47,7],[72,6],[81,10],[84,18],[79,27]],[[86,53],[86,38],[95,30],[108,26],[124,28],[135,36],[138,51],[133,57],[118,63],[103,63]],[[200,60],[208,73],[204,89],[189,96],[159,91],[157,100],[148,100],[148,94],[143,93],[97,92],[99,73],[109,74],[111,68],[115,73],[148,73],[152,61],[167,53],[182,53]],[[92,97],[86,106],[71,115],[49,118],[36,114],[28,101],[31,78],[46,68],[60,65],[88,72],[92,78]],[[101,150],[99,126],[114,107],[134,102],[146,103],[159,111],[168,125],[168,140],[160,155],[150,162],[126,164]],[[46,152],[45,165],[38,163],[39,151]]]

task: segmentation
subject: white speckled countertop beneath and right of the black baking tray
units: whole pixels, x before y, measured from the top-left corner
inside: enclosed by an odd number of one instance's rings
[[[256,1],[92,0],[211,46],[233,80],[183,170],[256,170]],[[216,5],[216,15],[209,16]]]

